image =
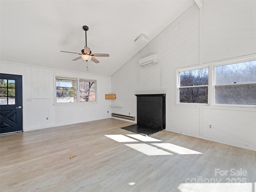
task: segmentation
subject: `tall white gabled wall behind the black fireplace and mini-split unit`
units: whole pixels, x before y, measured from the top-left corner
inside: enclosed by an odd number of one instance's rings
[[[134,94],[166,93],[166,130],[256,150],[256,108],[175,104],[176,68],[255,53],[256,1],[194,4],[112,76],[112,112],[136,116]],[[158,64],[140,67],[151,54]]]

